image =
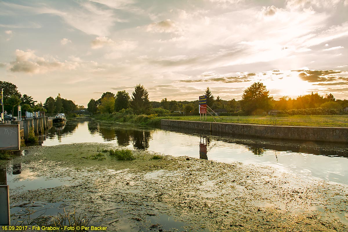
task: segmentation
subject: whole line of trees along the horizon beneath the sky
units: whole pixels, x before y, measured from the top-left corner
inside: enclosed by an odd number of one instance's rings
[[[84,108],[84,106],[76,105],[72,100],[62,98],[60,94],[55,98],[48,97],[44,104],[37,103],[31,96],[19,93],[16,85],[6,81],[0,81],[0,88],[4,89],[4,109],[12,113],[18,105],[22,106],[23,112],[46,111],[50,115],[57,112],[69,113]],[[235,98],[228,101],[223,100],[220,96],[215,98],[209,87],[202,95],[207,96],[207,105],[213,110],[241,115],[262,114],[271,109],[289,114],[303,114],[306,113],[306,109],[312,109],[307,111],[316,112],[316,114],[321,114],[321,112],[335,114],[343,112],[342,109],[348,107],[348,100],[335,99],[332,94],[321,96],[318,93],[311,93],[297,98],[283,96],[275,100],[269,96],[269,91],[261,82],[255,82],[247,87],[239,101],[236,101]],[[328,111],[327,109],[333,110]],[[135,86],[132,95],[129,95],[126,90],[122,90],[116,94],[105,92],[97,100],[92,98],[87,105],[87,110],[91,114],[122,112],[166,115],[177,114],[180,111],[189,115],[198,114],[198,99],[195,101],[169,101],[167,98],[163,98],[160,102],[150,101],[147,89],[139,84]]]

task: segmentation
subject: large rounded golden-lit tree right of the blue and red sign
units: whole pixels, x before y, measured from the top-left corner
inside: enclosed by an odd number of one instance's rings
[[[253,114],[257,111],[267,111],[270,108],[271,100],[269,91],[261,82],[255,82],[244,90],[241,106],[247,114]]]

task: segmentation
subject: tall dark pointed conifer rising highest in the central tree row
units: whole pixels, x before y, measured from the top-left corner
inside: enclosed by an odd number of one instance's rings
[[[149,101],[149,93],[144,86],[140,84],[135,86],[130,106],[135,114],[150,112],[152,105]]]

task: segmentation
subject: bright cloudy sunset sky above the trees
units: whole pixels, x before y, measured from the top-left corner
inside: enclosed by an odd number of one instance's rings
[[[348,99],[348,0],[2,0],[0,80],[87,106],[143,85],[150,101]]]

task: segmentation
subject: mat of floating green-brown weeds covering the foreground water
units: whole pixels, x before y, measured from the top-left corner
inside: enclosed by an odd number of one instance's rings
[[[88,159],[109,145],[28,147],[21,163],[42,188],[11,189],[11,205],[63,202],[107,231],[348,231],[348,188],[261,165],[134,151],[133,161]],[[105,153],[106,155],[106,153]],[[46,188],[50,181],[62,184]],[[11,186],[11,183],[9,183]]]

